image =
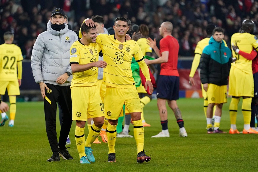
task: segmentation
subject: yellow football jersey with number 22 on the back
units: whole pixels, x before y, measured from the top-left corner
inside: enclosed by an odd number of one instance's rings
[[[0,80],[17,80],[17,61],[22,60],[20,47],[15,44],[6,43],[0,45]]]

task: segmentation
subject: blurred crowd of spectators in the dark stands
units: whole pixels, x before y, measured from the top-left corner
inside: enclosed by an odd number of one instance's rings
[[[164,21],[173,23],[172,35],[179,41],[179,56],[194,56],[199,40],[205,38],[205,26],[213,23],[225,29],[225,41],[238,32],[244,19],[258,25],[257,0],[0,0],[0,43],[6,31],[14,33],[25,59],[30,59],[37,36],[46,30],[51,12],[61,8],[72,30],[79,30],[85,18],[102,15],[105,27],[113,27],[116,17],[133,24],[146,24],[150,37],[161,39],[158,28]]]

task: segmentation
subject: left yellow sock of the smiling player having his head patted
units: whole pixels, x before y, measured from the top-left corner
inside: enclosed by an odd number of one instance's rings
[[[80,158],[83,156],[86,156],[85,150],[84,150],[84,143],[85,143],[85,136],[84,136],[84,128],[80,128],[78,126],[75,126],[75,142],[76,147],[79,152]]]

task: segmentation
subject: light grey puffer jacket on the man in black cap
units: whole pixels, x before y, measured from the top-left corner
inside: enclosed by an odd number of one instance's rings
[[[63,30],[56,31],[48,21],[47,31],[38,35],[31,55],[31,68],[36,83],[60,85],[56,83],[56,79],[65,72],[72,73],[69,65],[70,47],[77,40],[76,33],[68,30],[66,23]],[[72,75],[62,86],[71,85],[71,80]]]

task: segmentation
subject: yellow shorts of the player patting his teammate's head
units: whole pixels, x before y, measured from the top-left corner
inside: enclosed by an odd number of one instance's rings
[[[136,87],[115,88],[107,86],[105,96],[105,118],[116,120],[125,113],[142,112],[142,106]]]

